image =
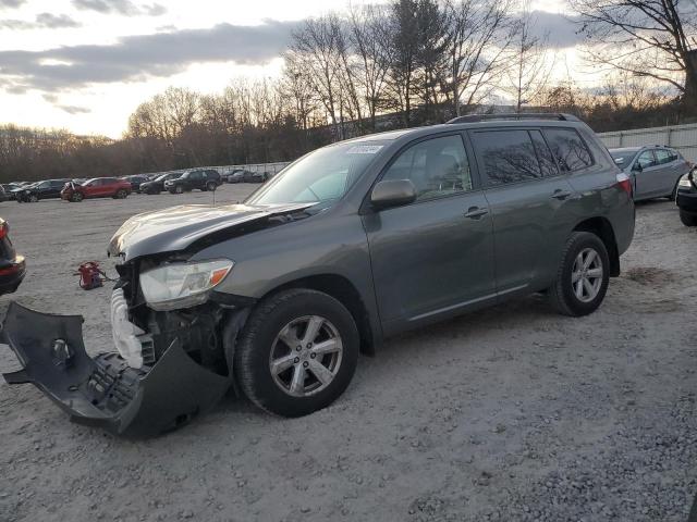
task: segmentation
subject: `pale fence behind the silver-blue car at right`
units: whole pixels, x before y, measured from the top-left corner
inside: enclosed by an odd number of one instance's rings
[[[635,128],[599,134],[609,149],[665,145],[678,150],[687,161],[697,163],[697,124]]]

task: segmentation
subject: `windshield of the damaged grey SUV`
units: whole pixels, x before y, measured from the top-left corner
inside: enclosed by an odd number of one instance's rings
[[[383,145],[350,142],[310,152],[253,195],[253,204],[320,203],[340,199],[356,183]]]

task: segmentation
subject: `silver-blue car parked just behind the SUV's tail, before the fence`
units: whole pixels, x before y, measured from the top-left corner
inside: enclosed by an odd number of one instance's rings
[[[690,169],[678,151],[659,145],[610,149],[610,156],[629,176],[635,201],[675,199],[677,182]]]

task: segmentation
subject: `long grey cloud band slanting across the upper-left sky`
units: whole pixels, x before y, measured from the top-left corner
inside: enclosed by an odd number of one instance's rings
[[[51,92],[89,84],[171,76],[193,63],[262,64],[280,55],[297,24],[220,24],[206,29],[126,36],[108,46],[0,51],[0,82]]]

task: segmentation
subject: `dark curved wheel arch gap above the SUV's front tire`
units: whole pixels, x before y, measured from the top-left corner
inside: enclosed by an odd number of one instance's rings
[[[360,352],[375,355],[376,345],[379,341],[379,334],[375,324],[370,320],[368,309],[360,297],[357,288],[343,275],[339,274],[317,274],[299,277],[267,291],[261,299],[291,288],[309,288],[327,294],[341,302],[356,322],[358,335],[360,336]]]

